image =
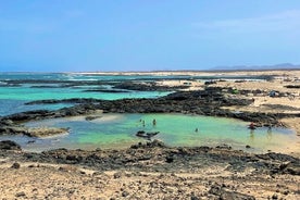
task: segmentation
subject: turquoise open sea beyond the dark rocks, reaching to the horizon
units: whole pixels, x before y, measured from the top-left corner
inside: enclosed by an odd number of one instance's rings
[[[0,116],[24,112],[37,109],[55,110],[72,104],[58,104],[58,105],[24,105],[28,101],[46,100],[46,99],[70,99],[70,98],[95,98],[103,100],[115,100],[123,98],[158,98],[166,96],[170,92],[162,91],[130,91],[127,92],[86,92],[86,89],[95,89],[98,85],[85,85],[73,87],[61,87],[57,80],[67,80],[76,83],[79,80],[90,82],[103,80],[108,85],[101,85],[110,89],[111,82],[122,80],[149,80],[149,79],[173,79],[173,78],[193,78],[193,79],[208,79],[218,77],[208,76],[189,76],[189,75],[171,75],[171,76],[152,76],[152,75],[84,75],[73,73],[0,73]],[[228,77],[230,78],[230,77]],[[237,78],[237,77],[232,77]],[[240,77],[251,78],[251,77]],[[39,84],[21,84],[9,87],[5,82],[8,80],[38,80]],[[53,82],[53,83],[52,83]],[[95,84],[95,83],[93,83]],[[46,86],[37,88],[36,86]],[[51,87],[49,87],[51,86]]]

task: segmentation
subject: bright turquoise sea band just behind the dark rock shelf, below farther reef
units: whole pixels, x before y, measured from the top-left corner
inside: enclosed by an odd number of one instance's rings
[[[103,100],[115,100],[123,98],[158,98],[166,96],[170,91],[129,91],[129,92],[84,92],[87,88],[30,88],[30,87],[0,87],[0,116],[30,111],[30,110],[57,110],[71,107],[71,103],[60,104],[36,104],[24,103],[45,99],[71,99],[71,98],[95,98]]]

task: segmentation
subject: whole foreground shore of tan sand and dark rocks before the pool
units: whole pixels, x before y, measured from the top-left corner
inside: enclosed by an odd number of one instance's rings
[[[300,195],[299,159],[249,154],[226,145],[171,148],[154,140],[124,150],[33,153],[2,141],[0,149],[0,192],[9,199],[251,200]]]

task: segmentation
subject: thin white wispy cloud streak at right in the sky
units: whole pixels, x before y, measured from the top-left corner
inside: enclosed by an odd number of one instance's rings
[[[201,30],[225,30],[233,33],[300,32],[300,10],[289,10],[277,14],[251,18],[221,20],[192,23]]]

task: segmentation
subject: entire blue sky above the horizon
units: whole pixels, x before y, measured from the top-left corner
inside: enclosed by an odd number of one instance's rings
[[[300,64],[299,0],[0,0],[0,71]]]

